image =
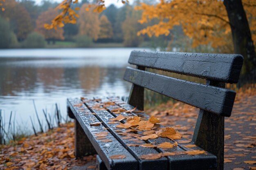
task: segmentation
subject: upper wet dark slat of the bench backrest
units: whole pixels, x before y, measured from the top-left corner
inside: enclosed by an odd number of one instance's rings
[[[237,83],[243,65],[238,54],[132,51],[130,64],[203,79]]]

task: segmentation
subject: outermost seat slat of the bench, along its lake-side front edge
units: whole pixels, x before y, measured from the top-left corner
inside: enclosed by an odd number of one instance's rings
[[[81,106],[79,105],[81,104]],[[95,133],[108,132],[102,125],[91,126],[92,123],[100,122],[91,111],[81,102],[80,99],[67,99],[67,106],[72,110],[74,116],[79,121],[79,124],[85,131],[85,134],[90,139],[97,153],[105,163],[108,170],[137,170],[137,160],[124,148],[124,146],[115,139],[109,132],[106,136],[107,139],[111,139],[110,142],[103,142],[96,139]],[[125,159],[110,159],[113,155],[126,155]]]

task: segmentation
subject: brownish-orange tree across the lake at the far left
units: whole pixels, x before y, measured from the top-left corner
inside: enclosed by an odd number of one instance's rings
[[[33,31],[31,18],[27,10],[15,0],[4,2],[4,11],[1,15],[10,21],[11,28],[18,40],[24,40]]]

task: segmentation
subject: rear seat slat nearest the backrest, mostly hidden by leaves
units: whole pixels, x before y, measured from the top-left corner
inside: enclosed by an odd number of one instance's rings
[[[117,106],[120,106],[124,108],[125,110],[130,110],[133,109],[134,107],[121,101],[118,97],[94,97],[94,99],[101,99],[101,102],[109,102],[113,101],[116,103],[116,105],[113,106],[108,106],[108,110],[113,110],[117,108]],[[118,104],[119,103],[119,104]],[[136,109],[138,110],[138,109]],[[117,117],[119,114],[111,113],[115,117]],[[132,116],[132,115],[139,115],[140,117],[143,116],[144,118],[148,119],[150,116],[147,115],[146,113],[121,113],[121,115],[124,116]],[[126,120],[122,120],[122,123],[126,123]],[[115,125],[116,126],[116,125]],[[115,127],[114,126],[114,127]],[[158,125],[159,128],[163,128],[163,126]],[[138,134],[141,134],[142,132],[137,132]],[[181,139],[184,140],[184,139]],[[164,142],[170,142],[174,143],[171,139],[164,138],[164,137],[158,137],[157,139],[148,139],[147,140],[149,143],[155,143],[157,144],[162,144]],[[175,140],[175,141],[180,141],[180,140]],[[194,145],[194,143],[188,143],[188,144],[179,144],[179,147],[173,147],[173,148],[168,148],[168,149],[162,149],[162,148],[157,148],[158,152],[177,152],[177,151],[186,151],[190,150],[188,148],[185,148],[183,146],[185,145]],[[135,149],[139,149],[141,147],[136,147],[132,146]],[[200,147],[193,147],[194,150],[202,150]],[[200,154],[200,155],[173,155],[173,156],[168,156],[168,162],[169,162],[169,170],[191,170],[191,169],[197,169],[197,170],[204,170],[204,169],[212,169],[216,167],[217,163],[217,157],[212,155],[211,153],[207,153],[207,155]],[[185,166],[184,166],[185,165]]]

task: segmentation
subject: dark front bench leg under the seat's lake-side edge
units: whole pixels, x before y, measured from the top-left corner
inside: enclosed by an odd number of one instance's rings
[[[94,155],[96,150],[92,146],[92,143],[85,135],[83,128],[79,122],[75,119],[75,156],[76,158],[83,157],[85,155]]]

